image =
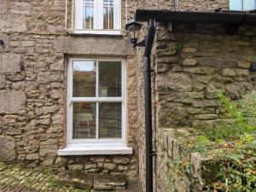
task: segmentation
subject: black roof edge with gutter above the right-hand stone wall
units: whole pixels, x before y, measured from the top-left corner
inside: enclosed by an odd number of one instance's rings
[[[199,12],[137,9],[135,20],[145,22],[149,19],[157,22],[187,23],[223,23],[223,24],[256,24],[256,14],[239,11]]]

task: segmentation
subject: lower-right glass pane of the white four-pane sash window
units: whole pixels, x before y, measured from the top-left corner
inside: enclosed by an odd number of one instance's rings
[[[122,103],[99,103],[99,137],[122,137]]]

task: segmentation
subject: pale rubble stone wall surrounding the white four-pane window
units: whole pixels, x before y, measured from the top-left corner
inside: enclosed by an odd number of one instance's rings
[[[67,34],[65,2],[0,0],[0,161],[137,177],[133,49],[122,37]],[[66,146],[67,61],[73,56],[127,59],[127,143],[132,155],[57,156]]]

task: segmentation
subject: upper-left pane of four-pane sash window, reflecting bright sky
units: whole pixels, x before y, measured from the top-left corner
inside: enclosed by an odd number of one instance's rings
[[[96,61],[73,61],[73,96],[96,96]]]

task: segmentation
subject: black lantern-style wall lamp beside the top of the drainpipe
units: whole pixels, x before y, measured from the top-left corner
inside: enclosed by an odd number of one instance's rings
[[[145,46],[145,39],[137,43],[137,39],[139,38],[141,28],[142,24],[138,23],[135,20],[129,20],[129,22],[125,25],[125,30],[128,31],[131,44],[133,44],[134,48],[137,46]]]

